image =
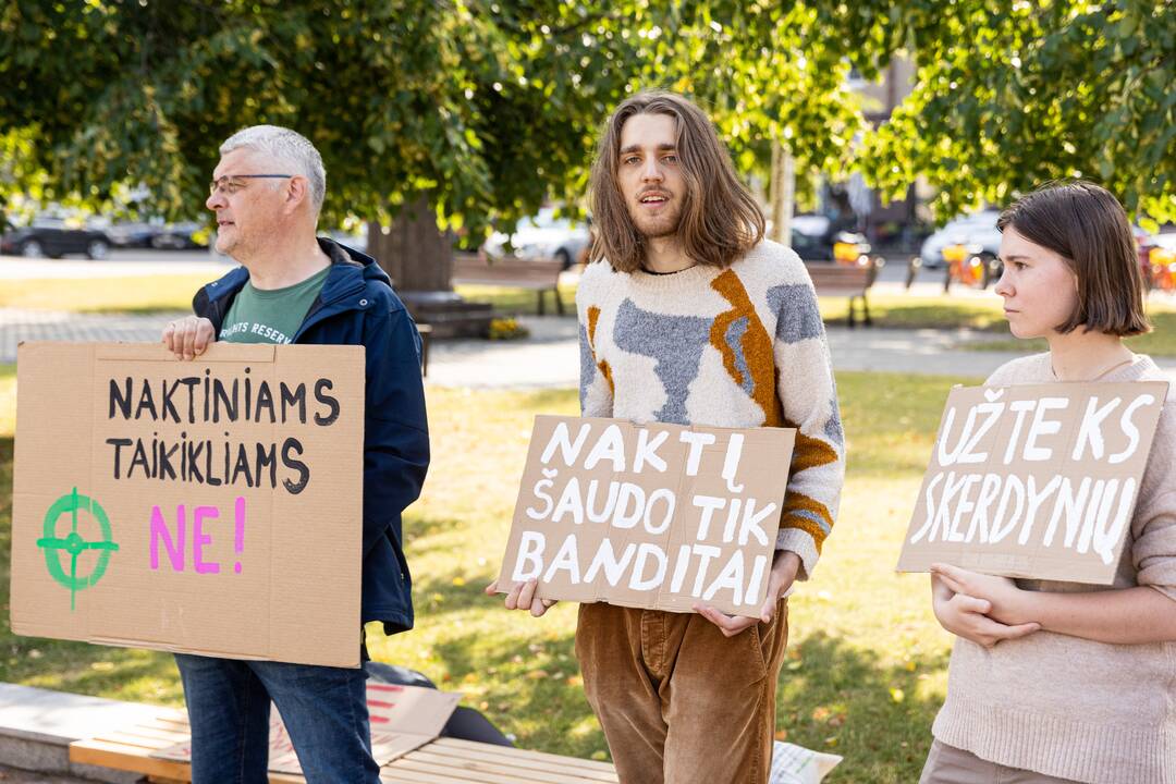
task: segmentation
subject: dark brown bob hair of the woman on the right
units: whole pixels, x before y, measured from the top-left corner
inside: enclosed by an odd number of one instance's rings
[[[1109,190],[1085,180],[1045,183],[1001,213],[996,228],[1007,227],[1062,256],[1077,277],[1078,303],[1057,331],[1151,330],[1131,226]]]

